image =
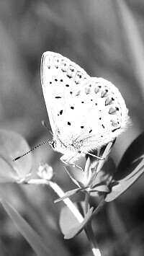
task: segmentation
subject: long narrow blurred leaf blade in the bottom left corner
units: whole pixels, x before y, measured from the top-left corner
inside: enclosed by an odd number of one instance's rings
[[[17,227],[22,236],[27,240],[32,249],[38,256],[55,255],[53,250],[45,245],[42,238],[32,229],[32,227],[25,221],[22,216],[14,209],[14,207],[6,200],[1,199],[1,204],[6,213],[9,214],[14,225]]]

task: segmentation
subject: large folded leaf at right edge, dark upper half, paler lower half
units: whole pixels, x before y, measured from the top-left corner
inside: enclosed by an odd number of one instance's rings
[[[140,134],[125,151],[117,167],[112,182],[109,184],[111,192],[105,201],[110,202],[125,192],[144,172],[144,133]]]

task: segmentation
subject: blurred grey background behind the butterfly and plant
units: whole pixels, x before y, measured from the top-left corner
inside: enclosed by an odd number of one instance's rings
[[[144,128],[144,2],[137,0],[5,0],[0,2],[0,128],[15,131],[30,147],[50,138],[40,84],[42,53],[52,50],[78,63],[91,76],[112,81],[125,98],[132,126],[116,141],[118,164]],[[60,154],[45,145],[33,153],[34,177],[41,161],[56,172],[63,190],[75,187]],[[114,203],[107,203],[94,231],[102,256],[144,255],[144,177]],[[59,255],[91,255],[82,232],[63,240],[58,217],[63,203],[46,187],[1,185],[0,193]],[[35,255],[0,208],[0,255]]]

